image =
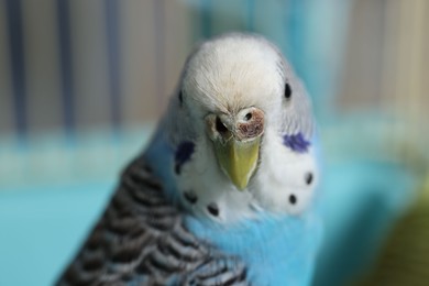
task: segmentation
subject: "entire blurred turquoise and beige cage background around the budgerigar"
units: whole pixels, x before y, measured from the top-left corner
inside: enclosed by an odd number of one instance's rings
[[[195,43],[276,43],[314,100],[315,285],[429,280],[426,0],[0,0],[0,285],[50,285],[144,148]]]

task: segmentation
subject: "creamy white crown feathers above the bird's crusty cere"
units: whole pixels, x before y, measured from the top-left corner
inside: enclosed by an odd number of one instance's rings
[[[280,61],[278,53],[258,37],[210,41],[189,61],[183,90],[190,102],[197,102],[199,108],[193,111],[200,116],[251,106],[272,114],[282,102],[284,89]]]

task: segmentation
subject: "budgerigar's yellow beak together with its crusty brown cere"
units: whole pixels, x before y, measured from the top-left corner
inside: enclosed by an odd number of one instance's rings
[[[220,168],[243,190],[256,170],[264,112],[252,107],[233,116],[209,114],[206,122]]]

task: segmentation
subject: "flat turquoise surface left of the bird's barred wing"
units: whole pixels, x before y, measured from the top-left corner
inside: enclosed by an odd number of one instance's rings
[[[98,218],[109,182],[0,193],[0,285],[52,285]]]

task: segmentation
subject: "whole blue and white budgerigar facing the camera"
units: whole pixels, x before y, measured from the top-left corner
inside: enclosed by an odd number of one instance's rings
[[[309,285],[315,141],[310,99],[274,44],[201,43],[58,284]]]

